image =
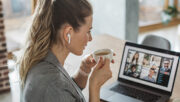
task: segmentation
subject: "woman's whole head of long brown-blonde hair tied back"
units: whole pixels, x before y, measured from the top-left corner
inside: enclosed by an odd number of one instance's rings
[[[19,59],[20,79],[24,86],[28,71],[48,53],[52,44],[63,41],[58,34],[63,24],[70,24],[75,30],[85,23],[85,17],[92,15],[87,0],[37,0],[32,24],[24,52]]]

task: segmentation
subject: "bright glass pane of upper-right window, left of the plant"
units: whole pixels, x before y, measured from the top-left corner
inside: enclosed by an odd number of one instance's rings
[[[161,22],[163,0],[140,0],[139,25],[146,26]]]

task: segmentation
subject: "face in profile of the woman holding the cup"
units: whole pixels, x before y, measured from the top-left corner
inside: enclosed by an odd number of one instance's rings
[[[70,51],[75,55],[82,55],[83,50],[87,46],[88,41],[92,40],[92,16],[85,18],[85,24],[81,25],[77,32],[74,32],[71,36]]]

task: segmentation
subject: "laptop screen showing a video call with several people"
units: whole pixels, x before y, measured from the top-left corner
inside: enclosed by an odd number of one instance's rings
[[[119,78],[171,92],[178,61],[175,52],[126,42]]]

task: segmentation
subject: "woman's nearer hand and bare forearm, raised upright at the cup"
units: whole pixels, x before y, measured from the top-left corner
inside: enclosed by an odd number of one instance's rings
[[[100,102],[100,88],[111,77],[110,60],[100,57],[89,80],[89,102]]]

